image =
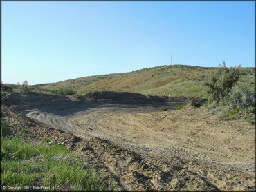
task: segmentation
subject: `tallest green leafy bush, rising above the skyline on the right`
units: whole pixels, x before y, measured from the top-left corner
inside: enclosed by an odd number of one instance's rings
[[[235,68],[227,68],[225,62],[223,66],[219,65],[219,68],[212,72],[205,81],[205,86],[208,87],[207,92],[210,96],[219,102],[221,98],[226,97],[232,86],[239,80],[240,66]]]

